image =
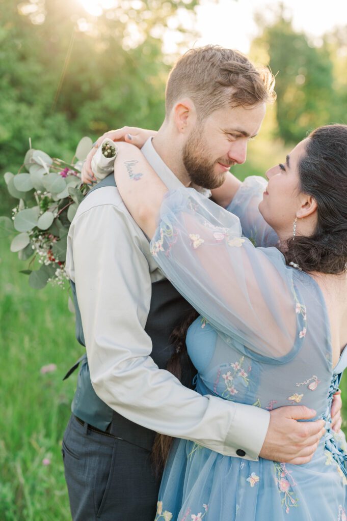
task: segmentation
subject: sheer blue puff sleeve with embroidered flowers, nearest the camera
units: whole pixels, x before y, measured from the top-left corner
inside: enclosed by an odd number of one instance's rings
[[[276,247],[242,237],[240,219],[193,189],[169,192],[151,252],[165,276],[228,343],[285,363],[306,333],[295,270]]]

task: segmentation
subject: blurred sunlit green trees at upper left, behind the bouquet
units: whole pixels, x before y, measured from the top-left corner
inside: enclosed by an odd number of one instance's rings
[[[157,128],[169,72],[162,36],[178,8],[197,3],[122,0],[95,18],[77,0],[0,0],[0,171],[17,171],[29,137],[68,160],[83,135]],[[6,192],[1,176],[0,214],[13,206]]]

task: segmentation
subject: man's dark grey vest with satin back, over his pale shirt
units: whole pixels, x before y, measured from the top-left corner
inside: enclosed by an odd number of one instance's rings
[[[116,186],[113,175],[107,176],[99,184],[95,185],[90,192],[105,186]],[[85,345],[76,287],[73,281],[70,281],[70,284],[76,308],[76,338],[81,345]],[[116,298],[117,295],[115,295]],[[170,335],[173,329],[182,322],[192,309],[192,306],[188,304],[168,280],[164,279],[152,283],[151,305],[145,331],[152,340],[153,349],[151,357],[160,369],[165,369],[174,352],[173,345],[170,342]],[[90,381],[87,354],[78,359],[64,379],[68,378],[79,364],[81,365],[78,373],[77,389],[71,406],[73,414],[98,429],[103,431],[107,429],[107,432],[118,438],[123,438],[130,443],[151,450],[155,432],[134,424],[124,416],[116,413],[95,393]],[[186,387],[192,388],[195,372],[193,365],[189,361],[182,367],[181,380]]]

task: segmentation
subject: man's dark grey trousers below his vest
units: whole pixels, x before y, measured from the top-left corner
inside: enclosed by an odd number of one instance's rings
[[[62,454],[74,521],[153,521],[160,480],[150,453],[82,426],[71,416]]]

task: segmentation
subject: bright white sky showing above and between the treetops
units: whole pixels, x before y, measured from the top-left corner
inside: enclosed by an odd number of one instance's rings
[[[119,5],[119,0],[75,0],[85,7],[92,16],[100,16],[103,9]],[[336,26],[347,26],[347,3],[345,0],[282,0],[292,15],[294,29],[304,30],[319,42],[319,36]],[[190,40],[187,48],[193,45],[219,44],[224,47],[237,48],[248,53],[249,45],[257,35],[254,14],[261,13],[271,22],[273,10],[279,5],[279,0],[200,0],[197,6],[197,18],[194,22],[189,11],[178,10],[178,18],[187,29],[195,29],[201,34],[196,40]],[[128,0],[133,9],[139,8],[141,0]],[[164,51],[176,52],[175,42],[180,41],[180,33],[175,31],[176,21],[168,20],[170,32],[156,36],[163,38]],[[86,30],[86,29],[82,29]],[[136,27],[130,35],[130,40],[136,45]],[[131,41],[129,47],[131,47]]]

